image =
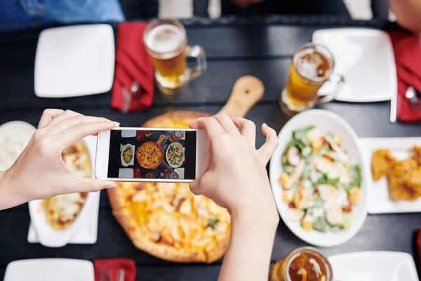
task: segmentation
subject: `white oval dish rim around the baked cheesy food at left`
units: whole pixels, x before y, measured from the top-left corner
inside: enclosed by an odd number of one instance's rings
[[[83,140],[82,140],[83,141]],[[91,159],[93,162],[94,159]],[[29,202],[29,215],[31,217],[32,225],[35,228],[36,236],[38,237],[39,242],[46,247],[63,247],[74,235],[75,231],[78,230],[83,220],[88,216],[90,206],[93,203],[94,196],[91,193],[88,193],[86,197],[85,204],[73,221],[64,230],[54,230],[53,227],[46,221],[46,216],[43,211],[41,211],[41,200],[34,200]]]

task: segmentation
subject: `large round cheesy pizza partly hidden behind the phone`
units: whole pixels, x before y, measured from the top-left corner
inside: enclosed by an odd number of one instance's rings
[[[145,127],[185,128],[201,112],[175,111]],[[228,211],[186,183],[118,183],[107,190],[112,212],[135,247],[161,259],[211,263],[227,250]]]

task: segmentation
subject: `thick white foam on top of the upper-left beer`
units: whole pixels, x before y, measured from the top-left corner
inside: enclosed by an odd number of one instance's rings
[[[158,25],[145,39],[148,48],[156,53],[170,53],[177,50],[184,41],[185,35],[174,25]]]

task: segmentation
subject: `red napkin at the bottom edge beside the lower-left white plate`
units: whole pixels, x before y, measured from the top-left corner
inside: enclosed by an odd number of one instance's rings
[[[133,259],[95,259],[93,261],[95,280],[100,279],[100,270],[104,270],[105,274],[111,274],[112,280],[116,280],[119,270],[124,270],[124,281],[135,281],[136,265]],[[105,266],[108,266],[107,269]]]

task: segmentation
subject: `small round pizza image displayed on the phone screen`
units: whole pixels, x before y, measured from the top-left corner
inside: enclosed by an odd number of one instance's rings
[[[163,148],[158,143],[147,141],[136,150],[136,160],[145,169],[156,169],[163,160]]]

